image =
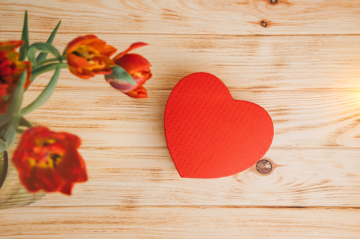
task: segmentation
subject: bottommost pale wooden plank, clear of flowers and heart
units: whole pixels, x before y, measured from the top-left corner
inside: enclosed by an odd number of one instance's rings
[[[0,212],[11,238],[358,238],[360,209],[25,207]],[[21,223],[20,223],[21,222]]]

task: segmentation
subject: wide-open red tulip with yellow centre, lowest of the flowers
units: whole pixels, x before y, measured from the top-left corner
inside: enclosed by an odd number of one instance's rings
[[[77,151],[80,145],[79,137],[69,133],[55,133],[45,127],[26,130],[12,160],[21,183],[30,192],[42,189],[71,195],[74,183],[88,180]]]

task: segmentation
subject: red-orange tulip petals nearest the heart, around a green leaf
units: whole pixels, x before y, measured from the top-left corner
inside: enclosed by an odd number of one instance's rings
[[[129,49],[123,51],[122,53],[115,56],[113,61],[117,66],[124,68],[129,75],[134,78],[136,85],[131,85],[125,80],[115,80],[112,78],[106,78],[112,87],[117,90],[120,90],[124,94],[129,95],[129,97],[134,98],[146,98],[148,97],[146,89],[142,86],[149,80],[152,76],[150,71],[151,64],[143,56],[138,54],[128,54],[129,51],[137,49],[138,47],[146,46],[144,42],[137,42],[132,44]]]

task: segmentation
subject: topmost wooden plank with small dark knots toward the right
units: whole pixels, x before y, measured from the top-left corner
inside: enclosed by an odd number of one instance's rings
[[[59,19],[62,32],[229,35],[359,34],[359,0],[26,1],[2,0],[1,31],[35,32]],[[64,11],[66,9],[66,11]],[[265,26],[266,23],[266,27]]]

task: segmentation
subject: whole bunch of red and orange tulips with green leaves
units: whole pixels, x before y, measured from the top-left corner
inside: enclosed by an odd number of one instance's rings
[[[81,140],[70,133],[33,127],[25,115],[50,98],[62,68],[69,68],[71,73],[83,79],[104,75],[106,82],[129,97],[146,98],[148,95],[143,85],[151,78],[151,64],[143,56],[129,54],[145,43],[134,43],[111,59],[117,49],[95,35],[76,37],[60,54],[52,45],[59,25],[60,22],[47,42],[29,45],[25,12],[21,40],[0,42],[0,152],[6,152],[16,133],[22,133],[12,157],[21,183],[30,192],[59,191],[71,195],[74,183],[88,178],[85,163],[78,152]],[[45,89],[22,108],[24,92],[37,75],[47,71],[54,71],[54,75]]]

